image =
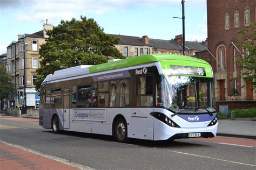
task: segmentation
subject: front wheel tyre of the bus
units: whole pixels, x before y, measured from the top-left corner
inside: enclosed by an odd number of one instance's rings
[[[127,123],[125,119],[117,119],[114,126],[114,137],[120,143],[125,143],[127,141]]]

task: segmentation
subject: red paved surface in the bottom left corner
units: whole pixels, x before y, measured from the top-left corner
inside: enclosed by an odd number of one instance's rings
[[[0,142],[0,169],[78,169]]]

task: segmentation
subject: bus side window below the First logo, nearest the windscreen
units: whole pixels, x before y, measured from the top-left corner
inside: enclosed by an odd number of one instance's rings
[[[153,76],[137,78],[137,107],[153,106]]]

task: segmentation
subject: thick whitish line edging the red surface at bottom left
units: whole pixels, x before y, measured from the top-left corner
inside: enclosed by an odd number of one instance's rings
[[[69,160],[66,160],[66,159],[63,159],[63,158],[58,158],[58,157],[55,157],[53,155],[44,154],[42,152],[32,150],[31,148],[28,148],[28,147],[24,147],[24,146],[16,145],[16,144],[11,144],[11,143],[8,143],[8,142],[3,141],[1,139],[0,139],[0,142],[4,143],[6,145],[10,145],[10,146],[14,146],[14,147],[20,148],[20,149],[22,149],[24,151],[28,151],[28,152],[31,152],[31,153],[35,153],[35,154],[41,155],[42,157],[45,157],[45,158],[49,158],[49,159],[53,159],[53,160],[62,162],[63,164],[70,165],[70,166],[73,166],[73,167],[76,167],[76,168],[79,168],[79,169],[93,169],[93,168],[91,168],[89,166],[84,166],[84,165],[81,165],[81,164],[77,164],[75,162],[72,162],[72,161],[69,161]]]

